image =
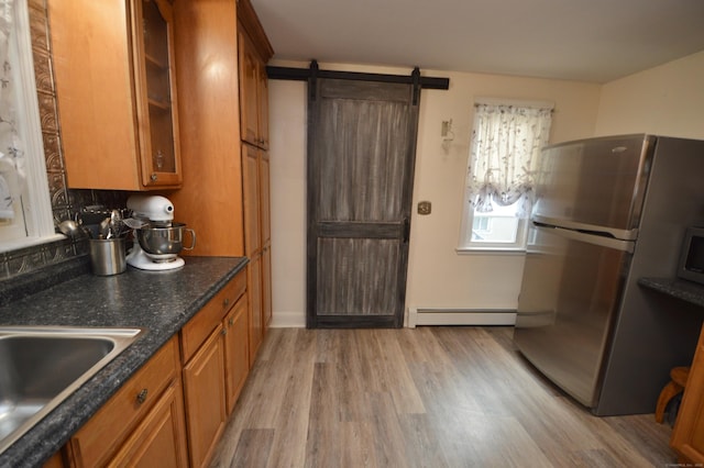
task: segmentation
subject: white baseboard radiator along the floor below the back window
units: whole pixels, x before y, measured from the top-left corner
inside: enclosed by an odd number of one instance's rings
[[[510,309],[424,309],[408,308],[406,326],[421,325],[515,325]]]

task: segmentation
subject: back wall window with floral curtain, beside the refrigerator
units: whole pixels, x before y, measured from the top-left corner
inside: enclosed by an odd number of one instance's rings
[[[468,158],[460,250],[522,250],[552,105],[481,102]]]

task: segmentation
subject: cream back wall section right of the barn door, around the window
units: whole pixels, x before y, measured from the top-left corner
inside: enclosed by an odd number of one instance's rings
[[[495,75],[428,71],[448,76],[448,91],[424,90],[414,205],[432,202],[432,214],[414,214],[406,305],[451,309],[515,309],[522,255],[460,255],[458,245],[464,177],[476,97],[550,101],[556,105],[551,142],[590,136],[600,86]],[[455,140],[446,154],[441,122],[452,119]]]

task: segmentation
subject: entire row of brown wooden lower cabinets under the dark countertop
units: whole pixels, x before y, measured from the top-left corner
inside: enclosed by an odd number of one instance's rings
[[[248,310],[242,271],[44,468],[207,466],[250,371]]]

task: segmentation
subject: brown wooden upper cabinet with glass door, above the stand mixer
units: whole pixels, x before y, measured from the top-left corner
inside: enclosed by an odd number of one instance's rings
[[[172,3],[48,0],[68,187],[178,188]]]

